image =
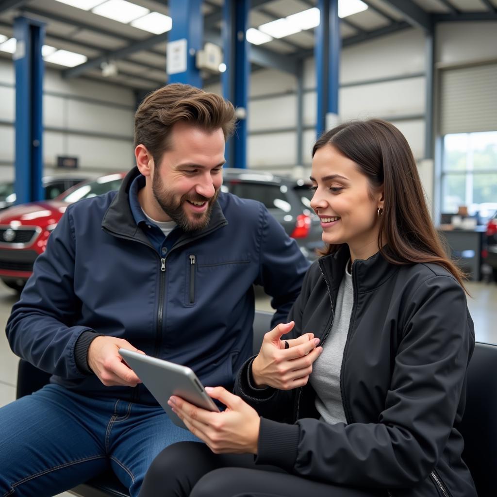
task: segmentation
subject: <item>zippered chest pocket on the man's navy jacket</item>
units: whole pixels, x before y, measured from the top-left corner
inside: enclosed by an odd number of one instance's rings
[[[237,260],[208,260],[196,254],[187,254],[185,271],[184,303],[187,307],[195,305],[199,292],[209,288],[211,295],[217,295],[237,272],[250,263],[247,254]]]

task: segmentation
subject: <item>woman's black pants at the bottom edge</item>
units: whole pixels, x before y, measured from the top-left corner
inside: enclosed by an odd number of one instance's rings
[[[207,445],[180,442],[150,466],[140,497],[386,497],[386,491],[352,489],[255,465],[251,454],[213,454]]]

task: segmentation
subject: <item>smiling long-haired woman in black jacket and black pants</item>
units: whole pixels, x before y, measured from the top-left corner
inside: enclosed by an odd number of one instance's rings
[[[237,396],[209,389],[225,412],[171,397],[207,445],[163,451],[140,496],[476,497],[457,430],[473,322],[406,139],[342,124],[314,146],[311,179],[328,249],[291,322],[266,333]]]

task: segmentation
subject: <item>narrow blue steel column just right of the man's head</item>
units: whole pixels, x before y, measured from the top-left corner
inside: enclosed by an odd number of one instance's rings
[[[226,144],[229,167],[247,167],[248,11],[250,0],[225,0],[223,7],[223,45],[226,71],[222,74],[223,95],[236,109],[237,129]]]

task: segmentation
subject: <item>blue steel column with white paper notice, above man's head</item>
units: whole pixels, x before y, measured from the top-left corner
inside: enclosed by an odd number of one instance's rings
[[[202,49],[204,19],[202,0],[169,0],[172,29],[168,42],[185,39],[187,43],[186,71],[169,75],[168,83],[185,83],[202,87],[200,71],[195,67],[195,54]]]

